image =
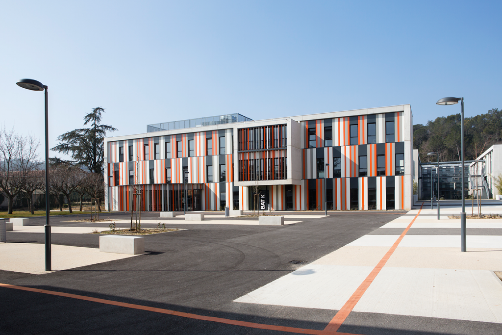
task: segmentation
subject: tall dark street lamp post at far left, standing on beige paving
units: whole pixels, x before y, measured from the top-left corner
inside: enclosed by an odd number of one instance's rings
[[[49,219],[49,101],[48,87],[40,81],[33,79],[21,79],[16,83],[18,86],[32,90],[45,91],[45,271],[51,271],[51,223]]]

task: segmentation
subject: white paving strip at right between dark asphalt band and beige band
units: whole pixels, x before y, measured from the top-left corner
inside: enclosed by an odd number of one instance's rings
[[[397,240],[396,235],[365,235],[349,246],[391,247]],[[502,236],[467,236],[468,248],[502,248]],[[460,236],[444,235],[406,235],[400,247],[446,247],[460,248]]]

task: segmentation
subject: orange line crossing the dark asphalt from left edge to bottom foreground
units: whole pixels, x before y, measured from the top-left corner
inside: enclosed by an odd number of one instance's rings
[[[169,314],[169,315],[174,315],[174,316],[186,317],[186,318],[190,318],[190,319],[203,320],[203,321],[212,321],[212,322],[225,323],[225,324],[231,324],[231,325],[238,325],[238,326],[249,327],[249,328],[269,329],[269,330],[278,330],[278,331],[288,331],[288,332],[294,332],[294,333],[299,333],[299,334],[313,334],[313,335],[317,335],[317,334],[319,334],[319,335],[335,334],[334,331],[317,330],[317,329],[307,329],[307,328],[296,328],[296,327],[280,326],[280,325],[274,325],[274,324],[264,324],[264,323],[256,323],[256,322],[238,321],[238,320],[232,320],[232,319],[225,319],[225,318],[221,318],[221,317],[205,316],[205,315],[198,315],[198,314],[192,314],[192,313],[179,312],[179,311],[171,310],[171,309],[164,309],[164,308],[150,307],[150,306],[144,306],[144,305],[137,305],[137,304],[127,303],[127,302],[119,302],[119,301],[114,301],[114,300],[93,298],[93,297],[88,297],[88,296],[79,295],[79,294],[71,294],[71,293],[64,293],[64,292],[57,292],[57,291],[41,290],[41,289],[38,289],[38,288],[31,288],[31,287],[25,287],[25,286],[16,286],[16,285],[9,285],[9,284],[2,284],[2,283],[0,283],[0,287],[11,288],[11,289],[16,289],[16,290],[21,290],[21,291],[35,292],[35,293],[44,293],[44,294],[56,295],[56,296],[60,296],[60,297],[66,297],[66,298],[73,298],[73,299],[78,299],[78,300],[85,300],[85,301],[103,303],[103,304],[112,305],[112,306],[127,307],[127,308],[133,308],[133,309],[140,309],[140,310],[146,310],[146,311],[150,311],[150,312],[156,312],[156,313],[162,313],[162,314]],[[336,332],[336,334],[341,334],[341,335],[343,335],[343,334],[357,335],[357,334],[342,333],[342,332]]]

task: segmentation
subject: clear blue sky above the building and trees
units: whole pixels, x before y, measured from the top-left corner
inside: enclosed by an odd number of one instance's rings
[[[254,120],[410,103],[414,124],[502,108],[500,1],[9,1],[1,124],[50,144],[106,108],[111,136],[240,113]],[[51,152],[51,156],[55,153]]]

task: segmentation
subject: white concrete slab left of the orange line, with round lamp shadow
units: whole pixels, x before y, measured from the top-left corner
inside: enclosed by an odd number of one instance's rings
[[[309,264],[234,301],[337,310],[372,269]]]

